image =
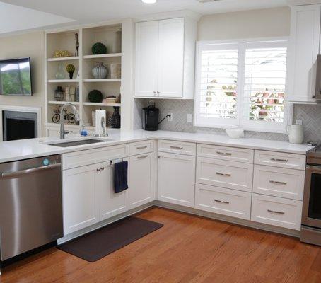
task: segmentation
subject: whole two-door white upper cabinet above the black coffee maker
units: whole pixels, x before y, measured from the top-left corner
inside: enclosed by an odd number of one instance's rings
[[[194,96],[197,24],[173,18],[136,24],[135,96]]]

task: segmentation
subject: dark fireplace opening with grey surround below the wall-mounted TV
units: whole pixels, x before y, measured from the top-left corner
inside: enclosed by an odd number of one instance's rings
[[[4,141],[37,137],[37,114],[32,112],[3,111]]]

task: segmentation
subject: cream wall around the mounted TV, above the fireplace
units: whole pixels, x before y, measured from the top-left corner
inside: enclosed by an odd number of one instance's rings
[[[30,57],[33,77],[33,96],[0,96],[0,105],[41,107],[45,121],[44,52],[45,33],[27,33],[0,37],[0,59]],[[42,134],[45,133],[42,127]]]

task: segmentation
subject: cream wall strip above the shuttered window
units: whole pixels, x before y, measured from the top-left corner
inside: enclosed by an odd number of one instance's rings
[[[228,40],[290,35],[289,7],[202,16],[198,40]]]

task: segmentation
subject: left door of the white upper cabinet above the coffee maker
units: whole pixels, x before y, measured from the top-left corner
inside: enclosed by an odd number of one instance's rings
[[[158,21],[136,24],[135,96],[153,97],[157,91]]]

